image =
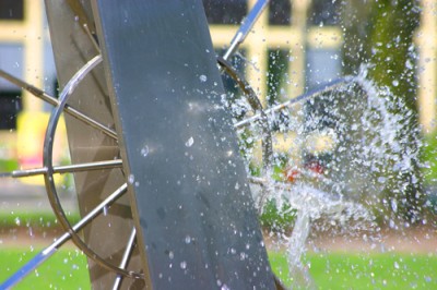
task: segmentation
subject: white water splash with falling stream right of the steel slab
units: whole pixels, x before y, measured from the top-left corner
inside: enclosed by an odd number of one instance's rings
[[[420,166],[422,145],[411,134],[413,113],[388,88],[369,81],[366,68],[347,81],[335,90],[269,113],[275,131],[274,165],[262,176],[262,186],[252,185],[260,212],[269,201],[276,208],[287,205],[290,209],[281,215],[295,210],[292,233],[282,230],[280,235],[293,280],[306,288],[314,283],[300,256],[311,221],[323,217],[352,231],[349,221],[361,221],[356,228],[363,229],[374,225],[376,214],[390,225],[405,203],[406,191],[421,180],[415,166]],[[247,105],[234,102],[232,109],[240,116]],[[243,156],[250,160],[251,173],[257,166],[253,144],[261,136],[257,124],[240,131]],[[287,148],[279,150],[284,141]]]

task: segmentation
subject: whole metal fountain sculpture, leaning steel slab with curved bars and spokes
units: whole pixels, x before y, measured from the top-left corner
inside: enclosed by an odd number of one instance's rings
[[[43,168],[2,177],[43,174],[64,233],[0,288],[13,287],[72,240],[88,257],[95,289],[281,289],[249,185],[262,188],[259,210],[268,186],[263,178],[247,176],[236,130],[260,128],[268,174],[268,114],[350,80],[264,110],[228,59],[265,0],[256,3],[218,59],[200,0],[45,2],[62,90],[56,99],[0,71],[54,106]],[[236,81],[252,110],[234,124],[221,101],[221,73]],[[69,166],[52,161],[62,114]],[[74,173],[82,216],[75,225],[68,220],[54,179],[66,172]]]

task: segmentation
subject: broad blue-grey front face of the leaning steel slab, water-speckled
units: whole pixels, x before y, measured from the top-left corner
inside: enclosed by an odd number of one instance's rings
[[[274,289],[202,2],[132,3],[93,9],[145,288]]]

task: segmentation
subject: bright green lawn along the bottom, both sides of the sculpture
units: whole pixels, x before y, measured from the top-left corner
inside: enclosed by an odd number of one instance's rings
[[[23,249],[0,250],[0,280],[36,254]],[[274,271],[291,285],[286,259],[270,253]],[[399,253],[310,253],[305,258],[319,289],[437,289],[437,256]],[[15,289],[90,289],[85,257],[61,250]]]

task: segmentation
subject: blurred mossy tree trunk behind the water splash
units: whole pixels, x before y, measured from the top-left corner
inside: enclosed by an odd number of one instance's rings
[[[379,87],[389,88],[393,101],[400,98],[409,109],[405,130],[399,132],[399,140],[408,141],[397,153],[400,156],[417,153],[421,144],[413,40],[420,24],[420,12],[417,0],[346,0],[342,7],[344,73],[356,74],[362,63],[368,64],[369,78]],[[381,201],[386,204],[393,204],[394,201],[397,217],[415,222],[424,200],[418,159],[410,165],[409,170],[397,174],[388,172],[393,170],[390,166],[383,169],[382,174],[390,178],[387,179]],[[395,189],[392,184],[400,184],[400,181],[403,181],[404,188]]]

